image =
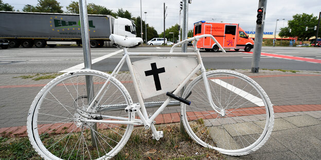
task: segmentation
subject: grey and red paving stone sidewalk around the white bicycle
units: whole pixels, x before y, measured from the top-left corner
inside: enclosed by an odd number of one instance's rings
[[[227,159],[321,159],[321,73],[296,73],[260,70],[236,70],[252,77],[269,95],[275,110],[275,127],[269,141],[253,154]],[[51,79],[34,81],[22,76],[0,76],[0,133],[26,135],[27,113],[33,98]],[[117,76],[137,102],[131,76],[123,72]],[[150,101],[165,96],[150,98]],[[149,109],[154,112],[157,108]],[[180,107],[167,107],[157,123],[179,122]]]

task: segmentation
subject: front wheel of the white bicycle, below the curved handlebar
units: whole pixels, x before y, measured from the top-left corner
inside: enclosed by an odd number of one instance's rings
[[[216,70],[206,73],[211,107],[202,75],[186,88],[191,105],[182,104],[181,114],[187,133],[204,147],[228,155],[245,155],[260,148],[274,124],[271,101],[263,89],[238,72]]]

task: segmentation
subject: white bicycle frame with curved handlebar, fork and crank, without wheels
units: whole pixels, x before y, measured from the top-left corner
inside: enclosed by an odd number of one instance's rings
[[[119,121],[105,121],[105,120],[95,120],[95,119],[86,119],[85,121],[86,122],[92,122],[92,123],[113,123],[113,124],[127,124],[127,125],[144,125],[146,129],[149,129],[151,128],[152,129],[152,132],[155,136],[155,139],[159,139],[159,135],[158,135],[158,132],[156,131],[156,128],[154,127],[154,124],[153,124],[153,121],[154,119],[156,118],[157,115],[159,115],[163,110],[164,108],[171,102],[171,97],[168,97],[166,99],[166,101],[161,105],[161,107],[159,107],[155,113],[153,113],[151,116],[148,116],[148,113],[146,111],[146,107],[145,107],[145,103],[144,103],[144,100],[141,96],[141,91],[138,87],[138,82],[136,80],[136,76],[134,74],[134,71],[133,71],[133,67],[132,67],[132,63],[131,63],[131,60],[130,60],[130,56],[195,56],[197,57],[197,61],[198,61],[198,65],[191,71],[191,73],[184,79],[183,83],[181,83],[173,92],[173,94],[177,94],[179,93],[183,87],[189,82],[189,79],[195,74],[197,73],[199,70],[201,70],[201,73],[202,73],[202,76],[203,76],[203,79],[204,79],[204,84],[205,84],[205,89],[206,89],[206,93],[207,93],[207,97],[208,97],[208,101],[211,105],[211,107],[213,108],[213,110],[215,110],[217,113],[221,114],[222,116],[224,116],[224,112],[222,112],[220,110],[219,107],[217,107],[213,102],[212,102],[212,98],[211,98],[211,93],[210,93],[210,88],[209,88],[209,85],[208,85],[208,80],[206,78],[206,69],[203,65],[203,62],[202,62],[202,58],[201,58],[201,54],[200,54],[200,51],[199,49],[197,48],[197,42],[200,38],[203,38],[203,37],[210,37],[213,39],[214,42],[216,42],[216,44],[218,45],[218,47],[225,53],[225,50],[221,47],[221,45],[216,41],[216,39],[210,35],[210,34],[205,34],[205,35],[200,35],[200,36],[195,36],[195,37],[192,37],[192,38],[189,38],[189,39],[186,39],[180,43],[177,43],[175,45],[172,46],[171,50],[169,53],[139,53],[139,52],[135,52],[135,53],[131,53],[131,52],[128,52],[127,51],[127,48],[123,48],[123,51],[124,51],[124,54],[123,54],[123,57],[121,58],[120,62],[118,63],[118,65],[116,66],[116,68],[114,69],[114,71],[111,73],[111,76],[107,79],[107,81],[104,83],[104,85],[102,86],[102,88],[99,90],[99,92],[97,93],[97,95],[94,97],[92,103],[90,104],[90,106],[88,107],[87,111],[90,111],[92,107],[95,108],[94,106],[94,102],[96,102],[97,98],[100,96],[101,98],[98,100],[98,103],[100,103],[102,97],[104,96],[106,90],[104,91],[104,93],[102,93],[102,91],[107,87],[109,81],[110,81],[110,78],[112,76],[115,76],[120,68],[123,66],[124,62],[126,61],[127,64],[128,64],[128,68],[129,68],[129,71],[130,71],[130,74],[132,76],[132,80],[133,80],[133,84],[134,84],[134,88],[135,88],[135,91],[136,91],[136,94],[137,94],[137,97],[138,97],[138,103],[139,104],[134,104],[133,102],[131,102],[131,104],[129,104],[129,106],[134,106],[136,105],[136,107],[138,107],[137,109],[137,114],[139,116],[140,119],[134,119],[134,120],[131,120],[129,121],[129,118],[123,118],[123,117],[116,117],[116,116],[104,116],[104,115],[101,115],[103,118],[113,118],[113,119],[118,119]],[[187,42],[190,42],[190,41],[194,41],[193,42],[193,49],[194,49],[194,52],[193,53],[173,53],[173,49],[174,47],[176,46],[179,46],[183,43],[187,43]],[[139,105],[139,106],[137,106]],[[141,111],[140,111],[141,109]],[[134,116],[132,116],[131,118],[134,118]]]

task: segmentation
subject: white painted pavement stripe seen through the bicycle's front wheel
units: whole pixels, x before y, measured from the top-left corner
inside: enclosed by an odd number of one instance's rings
[[[251,93],[247,93],[237,87],[234,87],[224,81],[221,81],[220,79],[211,79],[212,82],[215,82],[216,84],[238,94],[239,96],[242,96],[243,98],[247,99],[248,101],[251,101],[252,103],[258,105],[258,106],[264,106],[263,100],[259,97],[256,97],[252,95]]]

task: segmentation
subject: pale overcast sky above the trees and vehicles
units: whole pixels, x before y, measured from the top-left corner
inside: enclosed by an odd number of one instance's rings
[[[77,0],[74,0],[77,1]],[[36,6],[38,0],[3,0],[22,11],[27,4]],[[57,0],[66,11],[72,0]],[[140,16],[140,2],[142,19],[153,26],[158,34],[164,31],[164,3],[167,7],[165,28],[179,24],[180,0],[87,0],[88,3],[104,6],[114,12],[119,8],[128,10],[134,17]],[[238,23],[245,31],[255,31],[256,15],[259,0],[192,0],[188,6],[188,30],[193,29],[193,24],[199,21]],[[281,27],[286,27],[288,21],[295,14],[308,13],[314,16],[321,12],[320,0],[267,0],[264,32],[273,32],[277,25],[277,33]],[[145,14],[144,12],[147,12]],[[280,19],[278,22],[276,19]],[[284,20],[283,20],[284,19]],[[277,22],[277,24],[276,24]]]

